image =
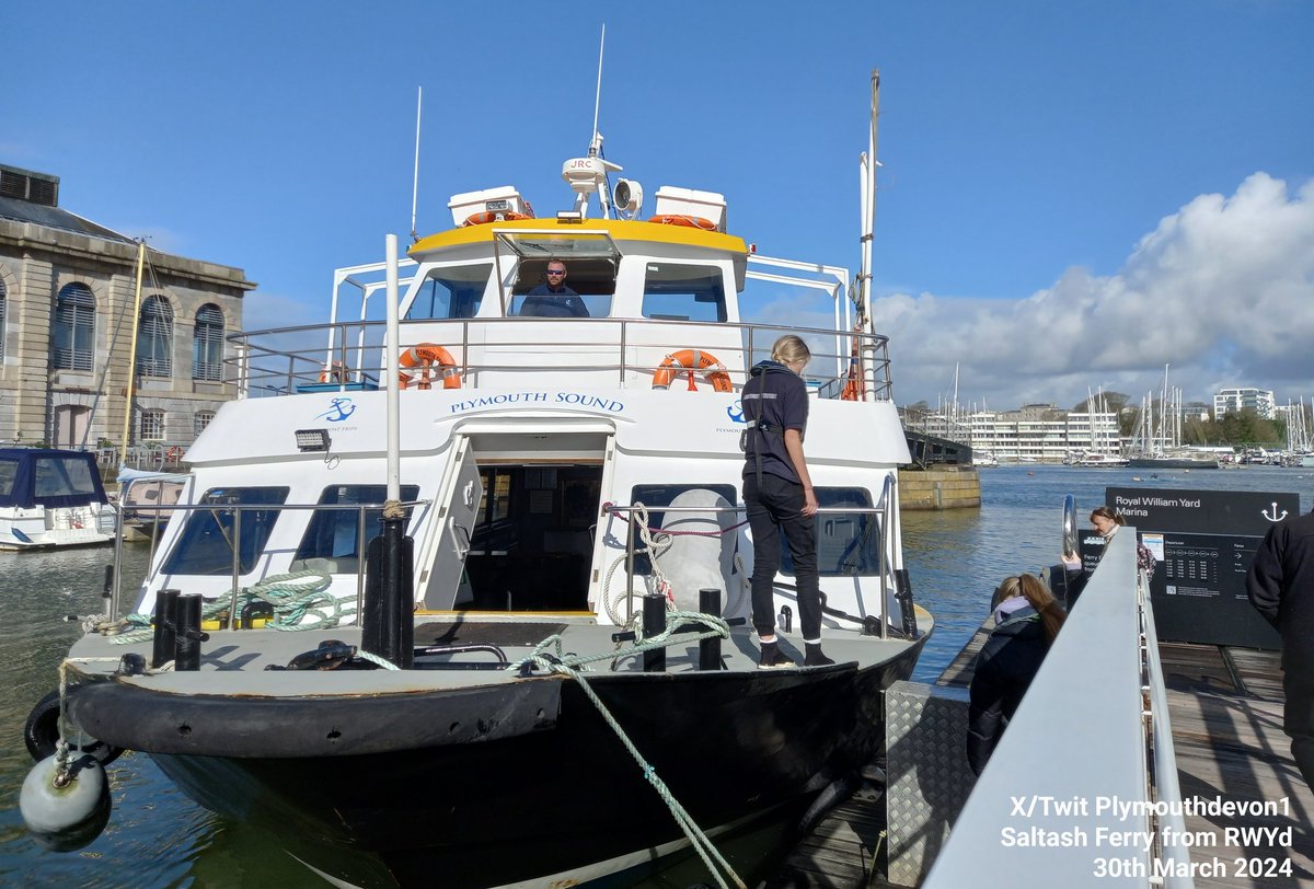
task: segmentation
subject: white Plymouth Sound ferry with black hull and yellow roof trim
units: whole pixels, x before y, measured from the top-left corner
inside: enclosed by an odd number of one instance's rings
[[[717,838],[879,751],[933,620],[865,288],[754,255],[720,194],[660,188],[645,214],[616,169],[595,135],[548,218],[515,188],[457,194],[405,263],[336,272],[317,344],[238,337],[243,397],[158,506],[181,515],[134,616],[116,591],[64,662],[83,750],[151,755],[335,885],[449,889],[625,885],[695,851],[728,872]],[[549,260],[587,316],[522,311]],[[813,349],[830,666],[758,670],[745,625],[740,393],[786,332],[742,319],[754,278],[834,298],[832,328],[788,331]],[[791,574],[786,553],[802,663]]]

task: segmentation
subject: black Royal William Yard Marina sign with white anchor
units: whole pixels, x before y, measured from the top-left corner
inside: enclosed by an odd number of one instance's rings
[[[1105,496],[1158,561],[1150,599],[1160,640],[1281,647],[1246,597],[1246,573],[1268,529],[1300,512],[1298,495],[1110,487]]]

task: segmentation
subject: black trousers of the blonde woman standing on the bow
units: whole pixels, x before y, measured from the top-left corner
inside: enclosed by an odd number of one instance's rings
[[[817,584],[816,520],[803,515],[803,486],[779,475],[744,477],[744,506],[753,529],[753,626],[759,636],[775,632],[775,574],[781,569],[781,532],[790,544],[804,640],[821,638],[821,592]]]

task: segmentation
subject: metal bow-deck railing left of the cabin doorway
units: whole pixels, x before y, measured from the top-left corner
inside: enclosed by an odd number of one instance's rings
[[[401,506],[402,506],[403,510],[407,510],[407,512],[409,512],[414,507],[426,507],[426,506],[430,506],[431,503],[432,503],[431,500],[407,500],[407,502],[402,503]],[[229,579],[231,580],[233,586],[226,592],[230,596],[230,611],[229,611],[230,620],[229,620],[229,626],[230,626],[230,629],[237,629],[238,625],[239,625],[239,622],[235,620],[235,616],[238,615],[238,597],[239,597],[239,595],[242,592],[242,576],[243,576],[243,574],[250,574],[250,570],[243,571],[243,569],[242,569],[242,515],[244,512],[265,512],[265,513],[268,513],[268,512],[276,512],[276,513],[283,513],[283,512],[292,512],[292,511],[302,511],[304,512],[306,510],[311,510],[311,511],[315,511],[315,512],[344,512],[344,511],[352,511],[352,512],[355,512],[356,513],[356,555],[355,555],[356,566],[355,566],[355,570],[353,571],[340,571],[340,573],[335,571],[332,574],[355,574],[355,582],[356,582],[356,615],[357,615],[357,620],[359,620],[359,616],[364,613],[363,605],[364,605],[364,599],[365,599],[365,545],[369,541],[369,538],[365,536],[365,531],[367,531],[367,525],[368,525],[368,517],[369,517],[371,512],[376,512],[377,513],[382,508],[384,508],[382,503],[271,503],[271,504],[264,504],[264,503],[158,503],[158,504],[151,504],[148,507],[145,507],[142,510],[142,512],[148,512],[148,513],[155,515],[158,517],[159,516],[168,516],[170,520],[172,520],[172,516],[175,513],[184,513],[184,516],[187,513],[192,513],[192,512],[213,512],[217,516],[218,515],[225,515],[225,516],[231,515],[231,519],[233,519],[233,536],[231,536],[231,538],[227,538],[227,540],[229,540],[230,549],[233,550],[233,563],[231,563],[231,571],[229,574]],[[114,512],[116,512],[116,525],[114,525],[114,532],[116,532],[114,533],[114,540],[116,540],[114,563],[118,565],[118,566],[122,566],[124,565],[124,519],[125,519],[125,513],[129,512],[129,510],[125,510],[122,507],[122,504],[116,504]],[[147,570],[147,575],[146,575],[146,579],[143,582],[145,584],[150,584],[160,574],[163,574],[163,562],[159,562],[159,563],[156,562],[156,548],[158,548],[158,544],[159,544],[159,541],[160,541],[160,538],[163,536],[164,536],[164,533],[160,532],[160,531],[156,531],[155,533],[152,533],[150,536],[150,554],[148,554],[148,558],[147,558],[147,565],[150,567]],[[258,555],[259,555],[259,553],[258,553]],[[167,557],[167,554],[166,554],[166,557]],[[309,558],[315,558],[315,557],[309,557]],[[323,558],[335,558],[335,557],[323,557]],[[305,562],[307,559],[293,559],[292,565],[294,566],[298,561]],[[313,570],[313,569],[306,567],[305,570]],[[112,590],[110,590],[110,597],[109,597],[109,601],[106,603],[106,616],[110,617],[110,618],[117,617],[118,613],[120,613],[120,605],[121,605],[121,600],[122,600],[121,599],[122,597],[122,586],[121,586],[121,582],[122,582],[122,571],[120,570],[120,571],[114,573],[114,580],[113,580]],[[255,580],[252,583],[258,583],[258,580]]]

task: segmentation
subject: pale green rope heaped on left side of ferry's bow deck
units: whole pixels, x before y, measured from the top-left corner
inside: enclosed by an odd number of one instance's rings
[[[273,609],[267,628],[285,632],[317,630],[338,626],[344,617],[355,617],[356,595],[335,596],[328,592],[332,578],[323,571],[292,571],[289,574],[272,574],[264,580],[250,587],[243,587],[238,592],[238,615],[230,617],[230,625],[238,618],[242,611],[251,603],[264,603]],[[231,607],[231,596],[221,595],[218,599],[208,600],[201,605],[201,620],[214,620],[219,615],[226,615]],[[113,636],[116,645],[129,645],[145,642],[151,638],[154,629],[151,615],[127,615],[117,624],[104,624],[102,618],[88,632],[101,632]],[[118,633],[113,633],[114,628]]]

